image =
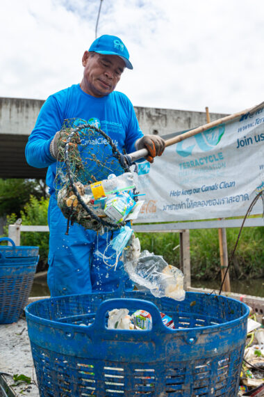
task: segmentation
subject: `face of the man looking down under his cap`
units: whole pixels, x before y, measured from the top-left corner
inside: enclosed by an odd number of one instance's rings
[[[83,80],[81,89],[100,98],[114,91],[125,68],[124,61],[117,55],[83,54]]]

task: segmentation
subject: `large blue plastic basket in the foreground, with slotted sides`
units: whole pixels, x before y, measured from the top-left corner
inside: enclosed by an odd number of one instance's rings
[[[115,308],[148,311],[152,329],[107,329]],[[26,319],[40,396],[235,397],[248,314],[235,299],[202,293],[182,302],[144,291],[33,302]]]

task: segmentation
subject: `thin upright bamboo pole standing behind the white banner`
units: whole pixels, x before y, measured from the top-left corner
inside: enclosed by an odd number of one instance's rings
[[[210,123],[209,109],[206,106],[206,121]],[[221,218],[219,218],[221,219]],[[221,266],[221,281],[223,282],[224,273],[226,272],[226,267],[228,266],[228,254],[227,254],[227,241],[226,241],[226,229],[218,228],[218,238],[219,238],[219,249],[220,249],[220,266]],[[225,293],[231,292],[229,272],[226,274],[222,290]]]

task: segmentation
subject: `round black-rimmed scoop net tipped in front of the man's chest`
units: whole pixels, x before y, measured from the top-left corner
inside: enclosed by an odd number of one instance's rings
[[[82,123],[81,123],[82,122]],[[69,225],[74,222],[94,231],[114,230],[124,221],[104,212],[106,196],[134,189],[129,157],[117,142],[94,125],[78,119],[65,120],[58,139],[55,178],[57,203]],[[110,179],[108,179],[108,177]]]

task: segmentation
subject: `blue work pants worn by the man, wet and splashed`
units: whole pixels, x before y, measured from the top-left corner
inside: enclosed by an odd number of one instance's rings
[[[118,262],[116,270],[108,266],[113,265],[116,260],[116,252],[108,244],[118,231],[99,235],[74,224],[69,226],[69,235],[65,235],[67,219],[58,208],[54,194],[49,201],[48,224],[48,286],[52,297],[95,291],[112,292],[119,288],[121,280],[129,278],[121,261]],[[106,260],[108,265],[100,255],[95,254],[97,250],[106,257],[111,257]],[[133,288],[133,283],[129,281],[126,286]]]

